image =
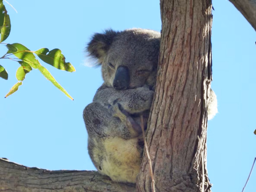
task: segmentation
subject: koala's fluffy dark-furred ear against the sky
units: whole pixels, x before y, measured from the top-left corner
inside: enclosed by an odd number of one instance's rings
[[[118,33],[112,29],[105,30],[103,33],[95,33],[86,47],[89,55],[101,61]]]

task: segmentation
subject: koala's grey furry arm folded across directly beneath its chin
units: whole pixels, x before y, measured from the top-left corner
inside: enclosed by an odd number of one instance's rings
[[[105,103],[105,105],[121,105],[130,114],[141,113],[151,107],[154,91],[148,87],[136,89],[116,90],[103,84],[93,98],[93,101]]]

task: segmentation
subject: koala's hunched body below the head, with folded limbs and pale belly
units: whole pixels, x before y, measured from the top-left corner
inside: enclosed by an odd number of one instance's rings
[[[88,151],[101,174],[135,183],[144,147],[140,115],[146,123],[153,93],[147,87],[120,91],[103,84],[84,109]]]

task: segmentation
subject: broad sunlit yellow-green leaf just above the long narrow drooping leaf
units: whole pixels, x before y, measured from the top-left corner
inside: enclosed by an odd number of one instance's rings
[[[6,47],[9,49],[7,53],[13,53],[17,58],[28,63],[31,67],[37,69],[41,66],[39,61],[35,58],[35,55],[22,44],[7,44]]]

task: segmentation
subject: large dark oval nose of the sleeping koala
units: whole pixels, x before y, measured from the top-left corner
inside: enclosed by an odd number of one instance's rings
[[[113,87],[116,90],[128,89],[130,84],[130,74],[127,67],[120,66],[116,70]]]

